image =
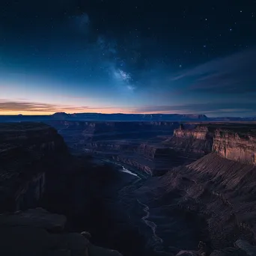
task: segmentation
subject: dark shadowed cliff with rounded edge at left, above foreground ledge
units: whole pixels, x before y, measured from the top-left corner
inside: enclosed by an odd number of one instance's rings
[[[40,123],[1,124],[1,211],[35,204],[45,190],[46,171],[65,156],[67,147],[54,128]]]

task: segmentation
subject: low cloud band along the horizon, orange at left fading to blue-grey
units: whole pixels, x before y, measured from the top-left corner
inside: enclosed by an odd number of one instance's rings
[[[82,113],[133,113],[133,114],[205,114],[209,116],[255,116],[255,103],[242,103],[238,107],[236,103],[213,104],[183,104],[174,106],[141,106],[137,108],[112,106],[91,107],[91,106],[64,106],[48,103],[36,103],[27,101],[0,100],[0,115],[49,115],[55,112]]]

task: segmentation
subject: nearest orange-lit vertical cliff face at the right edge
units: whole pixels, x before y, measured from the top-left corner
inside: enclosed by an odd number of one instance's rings
[[[217,129],[213,138],[213,151],[226,159],[256,165],[256,137],[252,134]]]

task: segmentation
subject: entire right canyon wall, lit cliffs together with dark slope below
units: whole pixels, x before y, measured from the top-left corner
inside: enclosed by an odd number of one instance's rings
[[[189,165],[170,168],[161,177],[150,177],[128,191],[124,189],[122,196],[128,198],[127,204],[138,198],[147,205],[149,220],[154,222],[165,252],[170,244],[180,246],[172,234],[180,226],[181,216],[183,224],[198,223],[192,227],[192,234],[196,240],[207,243],[206,255],[214,249],[228,255],[225,247],[240,239],[255,244],[255,141],[255,126],[248,124],[206,124],[194,130],[180,127],[165,142],[179,154],[198,159]],[[189,232],[189,228],[191,225],[184,230]]]

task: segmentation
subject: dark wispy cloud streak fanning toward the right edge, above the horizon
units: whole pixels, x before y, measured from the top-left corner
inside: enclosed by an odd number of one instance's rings
[[[189,91],[206,94],[248,94],[256,92],[256,49],[201,64],[171,78],[189,79]],[[256,104],[256,103],[255,103]]]

